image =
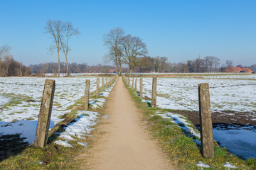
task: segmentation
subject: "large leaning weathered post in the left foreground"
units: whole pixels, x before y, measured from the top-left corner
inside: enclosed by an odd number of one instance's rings
[[[50,115],[53,108],[54,91],[55,81],[46,79],[43,89],[43,98],[41,101],[40,113],[38,115],[36,137],[33,144],[35,147],[46,147],[50,125]]]

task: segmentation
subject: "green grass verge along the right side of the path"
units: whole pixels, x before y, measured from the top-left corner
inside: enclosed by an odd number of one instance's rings
[[[125,82],[124,82],[125,84]],[[169,155],[169,159],[178,169],[201,169],[196,164],[201,161],[211,166],[209,169],[227,169],[223,166],[225,162],[230,162],[238,167],[238,169],[256,169],[255,159],[243,160],[236,157],[225,148],[218,146],[214,142],[215,158],[208,159],[203,157],[201,149],[196,145],[191,137],[181,130],[176,123],[172,123],[170,119],[164,119],[159,113],[171,112],[171,109],[150,108],[142,99],[135,94],[135,91],[125,84],[132,98],[137,103],[138,108],[144,115],[144,120],[151,135],[156,137],[163,152]],[[185,116],[184,116],[185,118]],[[191,123],[187,120],[188,123]],[[196,129],[191,123],[191,128]]]

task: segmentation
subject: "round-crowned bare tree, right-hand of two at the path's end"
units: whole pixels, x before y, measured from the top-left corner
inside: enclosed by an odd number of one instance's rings
[[[137,64],[137,57],[143,57],[147,54],[146,44],[138,37],[126,35],[122,37],[122,57],[129,66],[129,76],[132,76],[132,69]]]

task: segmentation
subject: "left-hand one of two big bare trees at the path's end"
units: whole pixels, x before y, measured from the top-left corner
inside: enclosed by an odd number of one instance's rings
[[[117,73],[122,73],[122,46],[121,40],[124,35],[122,28],[114,28],[103,36],[103,45],[109,48],[109,54],[105,56],[105,62],[114,62],[117,67]]]

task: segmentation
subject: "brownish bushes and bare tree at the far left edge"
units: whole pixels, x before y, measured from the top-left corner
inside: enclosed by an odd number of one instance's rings
[[[10,51],[8,45],[0,46],[0,77],[31,75],[31,69],[14,60]]]

